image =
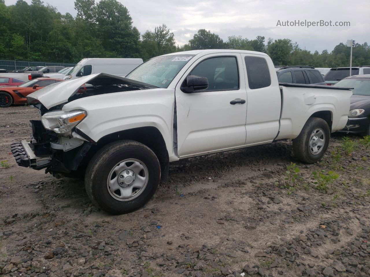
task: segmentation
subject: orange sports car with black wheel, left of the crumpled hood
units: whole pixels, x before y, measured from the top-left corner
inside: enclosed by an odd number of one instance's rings
[[[0,87],[0,107],[6,108],[11,104],[27,103],[26,96],[45,86],[64,81],[54,78],[37,78],[19,86]]]

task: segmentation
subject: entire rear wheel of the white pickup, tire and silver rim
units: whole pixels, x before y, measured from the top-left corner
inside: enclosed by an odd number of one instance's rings
[[[295,157],[303,163],[313,164],[326,152],[330,140],[327,122],[318,117],[310,117],[299,136],[293,139]]]

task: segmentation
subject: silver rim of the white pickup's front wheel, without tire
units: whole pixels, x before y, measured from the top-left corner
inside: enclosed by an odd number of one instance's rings
[[[148,168],[142,161],[126,159],[110,171],[107,179],[108,192],[118,201],[130,201],[144,191],[148,179]]]

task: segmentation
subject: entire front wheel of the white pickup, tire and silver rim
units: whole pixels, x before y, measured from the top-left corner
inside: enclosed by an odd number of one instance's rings
[[[119,215],[146,204],[157,190],[161,168],[154,152],[137,141],[120,140],[101,148],[85,173],[91,201]]]

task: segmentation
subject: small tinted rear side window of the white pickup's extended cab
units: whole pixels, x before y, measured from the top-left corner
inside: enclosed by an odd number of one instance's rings
[[[265,58],[246,56],[244,60],[250,89],[266,88],[271,85],[269,66]]]

